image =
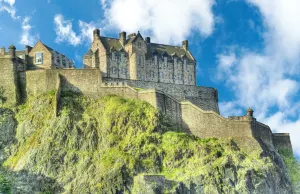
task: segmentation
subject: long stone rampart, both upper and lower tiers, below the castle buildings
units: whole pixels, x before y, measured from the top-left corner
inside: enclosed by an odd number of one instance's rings
[[[1,67],[8,76],[1,76],[0,79],[2,79],[2,83],[5,82],[2,84],[3,86],[12,88],[10,89],[11,95],[15,95],[17,98],[18,86],[26,86],[26,89],[23,90],[26,95],[39,95],[55,91],[57,98],[55,113],[57,113],[60,91],[79,92],[91,97],[112,94],[147,101],[168,116],[174,126],[183,128],[200,138],[254,137],[268,145],[273,145],[274,139],[276,141],[277,136],[273,136],[272,139],[270,128],[256,122],[253,117],[242,116],[226,119],[220,116],[217,106],[217,91],[213,88],[132,80],[110,82],[104,80],[103,82],[100,71],[96,69],[33,70],[19,72],[19,76],[15,76],[16,70],[12,68],[14,66],[5,66],[5,64],[5,61],[2,62]],[[7,64],[11,64],[9,59]],[[20,83],[17,83],[18,81]],[[189,97],[196,98],[197,95],[199,95],[200,101],[208,104],[206,109],[189,101]],[[277,145],[288,145],[288,143],[280,143],[284,142],[283,140],[276,142]]]

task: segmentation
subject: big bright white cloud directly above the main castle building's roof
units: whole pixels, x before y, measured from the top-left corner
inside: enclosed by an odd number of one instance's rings
[[[160,43],[181,43],[193,31],[213,32],[214,0],[101,0],[107,29],[151,35]]]

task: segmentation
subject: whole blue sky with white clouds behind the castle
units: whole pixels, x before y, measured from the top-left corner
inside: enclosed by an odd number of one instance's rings
[[[197,84],[219,91],[221,113],[252,107],[300,155],[300,14],[297,0],[0,0],[0,46],[38,39],[82,65],[91,32],[141,31],[153,42],[188,39]]]

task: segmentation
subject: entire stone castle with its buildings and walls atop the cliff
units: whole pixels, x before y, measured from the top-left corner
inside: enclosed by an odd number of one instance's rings
[[[59,60],[58,60],[59,59]],[[273,134],[258,122],[253,110],[244,116],[224,118],[219,113],[218,92],[196,86],[196,61],[188,48],[151,43],[140,33],[118,39],[94,40],[83,59],[85,68],[75,69],[73,62],[41,41],[25,51],[10,46],[0,53],[0,88],[8,104],[19,104],[28,96],[55,91],[56,106],[62,91],[74,91],[90,97],[119,95],[149,102],[167,116],[174,127],[200,138],[254,138],[270,150],[292,150],[289,134]]]

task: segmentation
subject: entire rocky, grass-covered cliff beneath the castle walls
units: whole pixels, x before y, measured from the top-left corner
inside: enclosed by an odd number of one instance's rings
[[[1,194],[299,192],[292,155],[255,139],[199,139],[117,96],[63,93],[54,106],[50,92],[0,108]]]

